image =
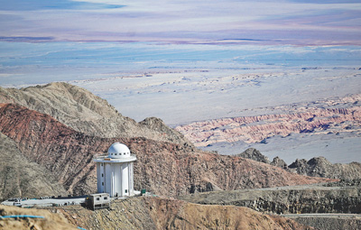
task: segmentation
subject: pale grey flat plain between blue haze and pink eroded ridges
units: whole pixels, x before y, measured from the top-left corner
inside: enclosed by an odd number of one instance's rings
[[[292,103],[361,91],[361,70],[202,69],[70,82],[106,98],[137,121],[157,116],[171,126],[193,121],[274,113]],[[253,112],[255,110],[255,113]]]

